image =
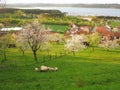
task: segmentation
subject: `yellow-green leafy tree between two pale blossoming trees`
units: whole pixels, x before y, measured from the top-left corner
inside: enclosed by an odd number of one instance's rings
[[[100,42],[101,42],[101,36],[98,32],[88,35],[88,43],[93,50],[96,46],[100,44]]]

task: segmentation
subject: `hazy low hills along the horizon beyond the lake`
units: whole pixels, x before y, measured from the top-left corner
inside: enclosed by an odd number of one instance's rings
[[[6,7],[84,7],[84,8],[116,8],[120,9],[120,4],[7,4]]]

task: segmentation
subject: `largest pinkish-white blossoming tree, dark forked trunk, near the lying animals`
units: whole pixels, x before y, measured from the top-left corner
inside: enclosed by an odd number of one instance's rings
[[[21,30],[17,42],[21,43],[23,47],[25,44],[28,44],[33,52],[34,60],[38,63],[37,51],[44,45],[44,42],[47,41],[45,27],[41,25],[38,20],[34,20],[22,28],[23,30]]]

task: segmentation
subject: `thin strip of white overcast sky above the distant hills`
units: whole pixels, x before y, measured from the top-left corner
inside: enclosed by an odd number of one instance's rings
[[[4,1],[4,0],[3,0]],[[120,0],[7,0],[7,3],[119,3]]]

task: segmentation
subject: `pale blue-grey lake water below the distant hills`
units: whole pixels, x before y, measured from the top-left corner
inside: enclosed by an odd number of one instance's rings
[[[22,9],[60,10],[73,16],[117,16],[120,17],[120,9],[111,8],[80,8],[80,7],[24,7]]]

